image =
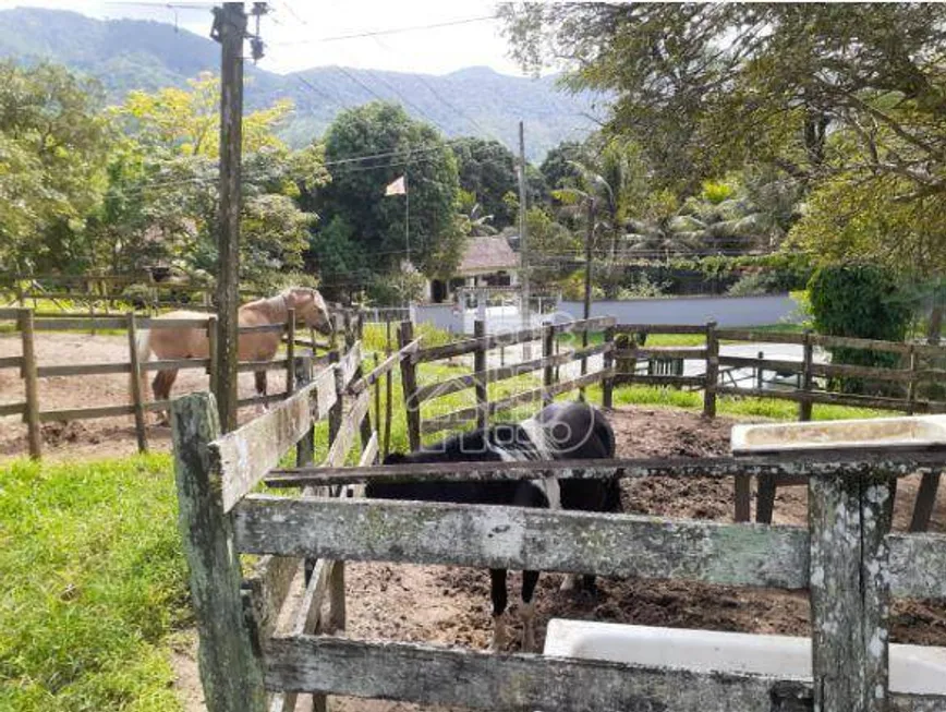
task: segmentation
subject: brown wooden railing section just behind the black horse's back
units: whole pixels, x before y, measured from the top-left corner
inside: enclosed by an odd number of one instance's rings
[[[596,317],[586,321],[545,324],[543,326],[519,329],[499,334],[485,334],[485,323],[475,323],[474,337],[462,339],[445,346],[427,347],[416,351],[401,365],[401,378],[404,391],[404,405],[408,417],[408,436],[411,448],[421,446],[422,435],[439,433],[475,423],[486,425],[494,415],[527,403],[548,403],[558,395],[581,389],[593,383],[602,383],[603,402],[611,405],[611,329],[615,321],[610,317]],[[589,334],[604,331],[602,343],[589,346]],[[403,346],[413,340],[413,324],[402,322],[400,343]],[[581,340],[580,343],[577,339]],[[531,346],[539,342],[538,358],[531,358]],[[565,342],[565,348],[562,348]],[[512,347],[520,347],[526,354],[523,360],[506,364],[504,353]],[[446,381],[421,384],[420,369],[422,364],[456,360],[472,355],[470,373],[451,377]],[[601,355],[603,365],[589,372],[589,359]],[[489,361],[494,361],[490,365]],[[499,363],[495,363],[498,359]],[[559,369],[569,363],[579,362],[581,373],[578,376],[560,379]],[[535,387],[489,398],[489,385],[501,383],[525,374],[542,371],[541,383],[536,379]],[[473,405],[446,414],[422,418],[421,407],[425,402],[436,400],[461,391],[472,391]]]

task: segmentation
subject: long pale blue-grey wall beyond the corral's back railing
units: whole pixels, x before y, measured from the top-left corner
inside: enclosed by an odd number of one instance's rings
[[[559,302],[556,321],[581,318],[582,302]],[[614,316],[618,324],[705,324],[763,326],[801,321],[798,302],[788,294],[762,297],[672,297],[592,302],[592,316]]]

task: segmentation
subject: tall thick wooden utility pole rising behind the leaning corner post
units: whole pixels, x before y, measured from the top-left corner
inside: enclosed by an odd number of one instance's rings
[[[217,241],[217,408],[225,433],[237,429],[237,345],[241,158],[243,145],[243,39],[246,13],[242,2],[214,8],[210,37],[221,45],[220,59],[220,207]]]

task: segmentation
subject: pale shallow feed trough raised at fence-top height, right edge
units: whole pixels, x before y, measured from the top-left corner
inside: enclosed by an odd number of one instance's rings
[[[735,425],[731,447],[735,455],[866,447],[943,448],[946,415]]]

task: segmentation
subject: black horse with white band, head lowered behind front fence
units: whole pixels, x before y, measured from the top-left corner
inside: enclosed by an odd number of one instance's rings
[[[604,414],[583,402],[553,403],[535,418],[521,423],[501,423],[486,430],[475,430],[429,445],[415,452],[392,452],[385,464],[413,462],[512,461],[602,459],[615,456],[615,434]],[[365,497],[376,499],[419,499],[478,505],[511,505],[514,507],[547,507],[583,511],[620,511],[620,487],[617,478],[609,480],[547,478],[543,480],[497,481],[429,481],[371,482]],[[493,600],[493,649],[505,644],[504,613],[506,612],[506,570],[490,569]],[[563,590],[572,588],[573,577],[567,577]],[[522,575],[522,649],[535,647],[532,595],[538,582],[538,571]],[[594,590],[594,576],[583,577],[584,586]]]

